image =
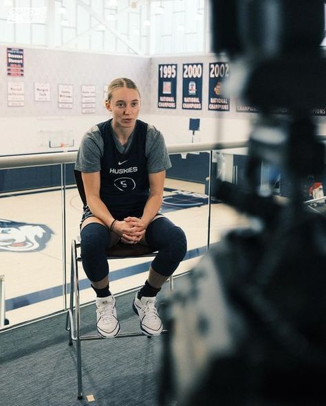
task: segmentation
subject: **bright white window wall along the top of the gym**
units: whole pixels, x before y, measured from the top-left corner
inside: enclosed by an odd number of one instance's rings
[[[1,1],[0,43],[147,55],[204,52],[205,24],[200,19],[208,1]],[[17,8],[43,8],[47,18],[9,23]]]

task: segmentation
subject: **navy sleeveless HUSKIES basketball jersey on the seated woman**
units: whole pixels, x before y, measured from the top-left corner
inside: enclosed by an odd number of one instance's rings
[[[116,148],[111,120],[98,124],[104,141],[100,161],[100,198],[112,216],[142,216],[149,198],[149,174],[145,156],[147,124],[137,120],[129,151],[121,154]]]

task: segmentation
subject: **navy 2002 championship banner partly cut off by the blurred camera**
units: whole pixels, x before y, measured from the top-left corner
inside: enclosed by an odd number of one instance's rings
[[[209,64],[208,110],[230,111],[230,99],[224,93],[225,80],[230,76],[226,62]]]

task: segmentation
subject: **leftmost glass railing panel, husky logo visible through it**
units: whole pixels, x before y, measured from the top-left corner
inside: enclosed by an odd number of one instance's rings
[[[60,165],[0,170],[0,261],[10,325],[63,309],[60,184]]]

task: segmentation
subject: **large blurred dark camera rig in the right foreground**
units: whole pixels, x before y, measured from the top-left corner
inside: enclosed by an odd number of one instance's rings
[[[211,248],[171,296],[161,404],[321,406],[326,219],[303,205],[302,183],[325,167],[312,115],[326,105],[325,2],[210,6],[214,51],[230,56],[237,95],[259,110],[246,188],[217,181],[217,198],[254,221]],[[290,178],[286,204],[261,195],[261,161]]]

